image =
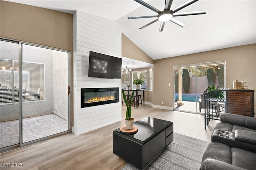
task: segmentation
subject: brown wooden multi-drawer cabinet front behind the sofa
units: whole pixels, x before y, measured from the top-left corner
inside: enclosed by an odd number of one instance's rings
[[[254,90],[226,90],[226,113],[254,117]]]

